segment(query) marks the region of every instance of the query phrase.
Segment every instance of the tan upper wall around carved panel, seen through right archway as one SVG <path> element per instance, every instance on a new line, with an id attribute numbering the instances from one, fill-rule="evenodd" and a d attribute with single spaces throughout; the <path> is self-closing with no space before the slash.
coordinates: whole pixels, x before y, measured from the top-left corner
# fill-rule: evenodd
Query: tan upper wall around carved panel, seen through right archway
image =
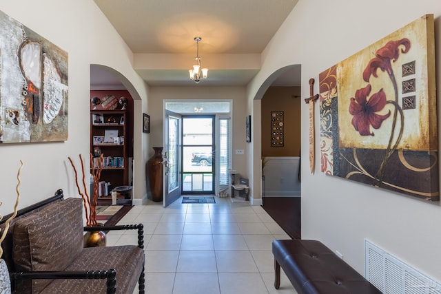
<path id="1" fill-rule="evenodd" d="M 269 87 L 262 98 L 262 157 L 300 156 L 300 87 Z M 283 111 L 283 147 L 271 146 L 271 111 Z"/>

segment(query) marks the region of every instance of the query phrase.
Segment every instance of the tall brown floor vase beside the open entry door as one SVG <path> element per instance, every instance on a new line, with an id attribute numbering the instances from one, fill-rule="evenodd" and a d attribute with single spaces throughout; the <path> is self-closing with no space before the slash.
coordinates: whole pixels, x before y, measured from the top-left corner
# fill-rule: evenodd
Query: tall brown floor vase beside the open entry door
<path id="1" fill-rule="evenodd" d="M 153 147 L 154 154 L 147 160 L 147 177 L 153 201 L 163 200 L 163 147 Z"/>

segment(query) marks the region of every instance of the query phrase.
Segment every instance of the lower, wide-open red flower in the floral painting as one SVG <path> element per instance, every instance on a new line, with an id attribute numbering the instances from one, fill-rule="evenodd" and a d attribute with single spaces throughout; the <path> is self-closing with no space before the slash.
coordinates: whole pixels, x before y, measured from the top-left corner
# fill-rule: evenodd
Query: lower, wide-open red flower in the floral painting
<path id="1" fill-rule="evenodd" d="M 367 96 L 371 93 L 371 85 L 359 89 L 356 91 L 355 98 L 351 98 L 351 104 L 349 105 L 349 113 L 353 115 L 352 125 L 360 133 L 361 136 L 373 136 L 370 131 L 370 126 L 374 129 L 378 129 L 381 126 L 383 120 L 391 115 L 391 111 L 385 115 L 376 114 L 384 108 L 386 105 L 386 94 L 381 89 L 377 93 L 373 94 L 369 101 Z"/>

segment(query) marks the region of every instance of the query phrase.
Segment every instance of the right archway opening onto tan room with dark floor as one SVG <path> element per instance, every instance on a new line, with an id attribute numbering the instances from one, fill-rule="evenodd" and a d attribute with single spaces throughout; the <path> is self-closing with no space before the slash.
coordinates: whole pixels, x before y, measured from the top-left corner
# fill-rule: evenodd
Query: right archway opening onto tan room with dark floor
<path id="1" fill-rule="evenodd" d="M 300 65 L 280 68 L 267 78 L 254 103 L 260 115 L 260 125 L 255 125 L 260 148 L 255 152 L 260 156 L 263 208 L 291 238 L 301 235 L 300 74 Z"/>

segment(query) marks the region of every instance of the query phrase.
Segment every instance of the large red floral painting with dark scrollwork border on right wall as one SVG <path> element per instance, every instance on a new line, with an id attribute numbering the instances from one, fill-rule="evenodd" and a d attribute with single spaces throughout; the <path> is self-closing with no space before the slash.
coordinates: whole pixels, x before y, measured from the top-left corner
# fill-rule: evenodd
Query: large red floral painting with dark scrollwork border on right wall
<path id="1" fill-rule="evenodd" d="M 433 14 L 319 80 L 322 172 L 440 200 Z"/>

